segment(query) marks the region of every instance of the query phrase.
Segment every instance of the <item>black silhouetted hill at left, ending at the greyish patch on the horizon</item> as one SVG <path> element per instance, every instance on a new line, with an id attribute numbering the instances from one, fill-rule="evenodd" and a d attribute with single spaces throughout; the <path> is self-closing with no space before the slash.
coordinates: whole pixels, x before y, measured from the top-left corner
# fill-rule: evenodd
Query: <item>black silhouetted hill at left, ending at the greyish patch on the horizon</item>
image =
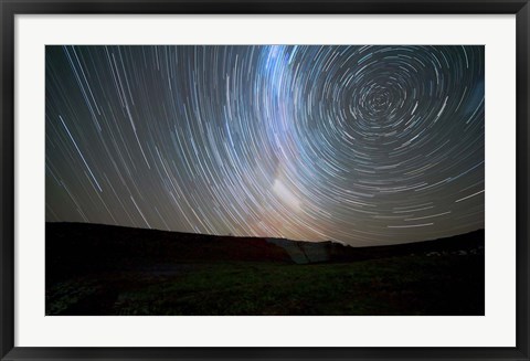
<path id="1" fill-rule="evenodd" d="M 265 238 L 213 236 L 89 223 L 46 223 L 46 272 L 137 267 L 151 263 L 290 263 Z"/>

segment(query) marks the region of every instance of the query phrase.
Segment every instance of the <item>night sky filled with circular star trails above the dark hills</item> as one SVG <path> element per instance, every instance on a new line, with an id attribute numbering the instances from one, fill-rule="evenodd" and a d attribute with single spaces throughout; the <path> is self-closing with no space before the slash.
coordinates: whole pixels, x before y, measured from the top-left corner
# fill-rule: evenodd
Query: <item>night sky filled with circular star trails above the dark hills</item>
<path id="1" fill-rule="evenodd" d="M 46 221 L 402 243 L 484 227 L 484 46 L 46 46 Z"/>

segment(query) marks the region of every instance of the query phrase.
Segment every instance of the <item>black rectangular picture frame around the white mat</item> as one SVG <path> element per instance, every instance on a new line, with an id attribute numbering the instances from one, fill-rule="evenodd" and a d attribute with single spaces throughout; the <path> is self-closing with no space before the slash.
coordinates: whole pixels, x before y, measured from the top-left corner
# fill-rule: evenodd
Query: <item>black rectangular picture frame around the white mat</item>
<path id="1" fill-rule="evenodd" d="M 529 360 L 529 0 L 0 0 L 1 360 Z M 14 347 L 14 18 L 17 14 L 517 14 L 517 346 L 515 348 Z"/>

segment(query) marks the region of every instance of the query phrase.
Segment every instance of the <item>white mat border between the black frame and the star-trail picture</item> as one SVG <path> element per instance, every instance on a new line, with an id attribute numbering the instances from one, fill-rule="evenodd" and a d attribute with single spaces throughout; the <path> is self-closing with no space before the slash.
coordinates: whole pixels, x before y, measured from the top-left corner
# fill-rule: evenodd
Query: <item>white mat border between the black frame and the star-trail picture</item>
<path id="1" fill-rule="evenodd" d="M 15 346 L 516 346 L 515 25 L 515 15 L 18 15 Z M 486 45 L 486 316 L 45 317 L 46 44 Z"/>

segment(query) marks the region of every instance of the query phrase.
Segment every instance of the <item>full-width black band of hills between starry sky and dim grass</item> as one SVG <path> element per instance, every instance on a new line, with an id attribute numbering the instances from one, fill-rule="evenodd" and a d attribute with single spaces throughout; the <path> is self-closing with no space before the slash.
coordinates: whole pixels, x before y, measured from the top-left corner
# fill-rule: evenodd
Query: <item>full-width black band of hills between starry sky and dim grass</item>
<path id="1" fill-rule="evenodd" d="M 484 252 L 484 230 L 436 241 L 351 247 L 332 242 L 214 236 L 88 223 L 46 223 L 46 270 L 149 263 L 352 262 L 411 254 Z M 53 266 L 53 267 L 47 267 Z"/>

